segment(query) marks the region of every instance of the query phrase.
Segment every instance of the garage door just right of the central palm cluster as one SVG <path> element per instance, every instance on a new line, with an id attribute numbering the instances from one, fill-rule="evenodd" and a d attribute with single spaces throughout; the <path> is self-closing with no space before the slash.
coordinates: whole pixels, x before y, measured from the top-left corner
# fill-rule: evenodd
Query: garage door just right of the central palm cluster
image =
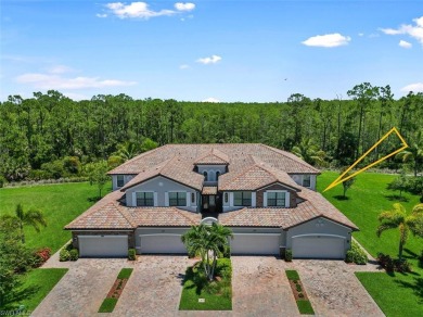
<path id="1" fill-rule="evenodd" d="M 234 233 L 231 254 L 279 254 L 280 233 Z"/>

